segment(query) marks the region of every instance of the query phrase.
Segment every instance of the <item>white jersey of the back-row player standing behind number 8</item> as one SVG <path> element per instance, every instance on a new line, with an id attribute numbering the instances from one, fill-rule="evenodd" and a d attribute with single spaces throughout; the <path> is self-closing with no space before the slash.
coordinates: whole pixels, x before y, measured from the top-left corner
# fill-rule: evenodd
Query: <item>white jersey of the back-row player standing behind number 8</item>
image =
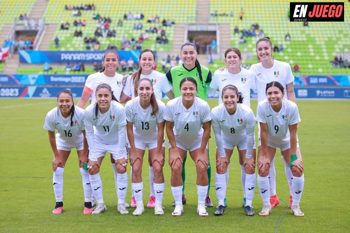
<path id="1" fill-rule="evenodd" d="M 219 104 L 222 104 L 222 89 L 229 84 L 237 87 L 238 91 L 241 92 L 244 97 L 243 104 L 250 108 L 250 89 L 257 92 L 254 73 L 243 67 L 241 67 L 241 71 L 238 74 L 231 74 L 228 69 L 215 71 L 210 83 L 210 88 L 215 90 L 219 88 Z"/>

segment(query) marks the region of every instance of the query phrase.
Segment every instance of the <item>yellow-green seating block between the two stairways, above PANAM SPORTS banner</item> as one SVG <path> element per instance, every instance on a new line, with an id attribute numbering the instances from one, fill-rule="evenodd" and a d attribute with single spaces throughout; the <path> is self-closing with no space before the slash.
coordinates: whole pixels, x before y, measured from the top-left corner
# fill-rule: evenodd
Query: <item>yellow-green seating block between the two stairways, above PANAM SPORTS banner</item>
<path id="1" fill-rule="evenodd" d="M 79 4 L 91 4 L 90 0 L 79 1 Z M 83 38 L 94 37 L 94 31 L 96 30 L 96 20 L 92 19 L 93 13 L 99 13 L 102 17 L 110 17 L 112 23 L 110 23 L 110 29 L 116 30 L 116 37 L 98 37 L 100 42 L 100 50 L 106 49 L 107 46 L 111 43 L 120 48 L 120 41 L 123 36 L 126 36 L 128 39 L 134 37 L 135 40 L 138 40 L 138 35 L 141 32 L 145 32 L 149 27 L 162 26 L 161 23 L 147 23 L 147 20 L 151 16 L 159 16 L 160 21 L 163 19 L 170 19 L 176 23 L 194 23 L 195 14 L 196 14 L 196 1 L 195 0 L 177 0 L 177 1 L 162 1 L 155 0 L 152 2 L 142 1 L 142 0 L 132 0 L 128 1 L 127 4 L 122 1 L 107 1 L 107 0 L 97 0 L 93 1 L 96 5 L 96 10 L 82 10 L 82 16 L 75 17 L 72 15 L 71 10 L 65 10 L 65 5 L 72 5 L 71 1 L 68 0 L 50 0 L 48 6 L 44 12 L 43 17 L 45 17 L 46 23 L 58 24 L 58 27 L 55 32 L 60 40 L 59 44 L 60 50 L 86 50 L 86 44 L 83 43 Z M 74 4 L 73 4 L 74 5 Z M 72 5 L 72 6 L 73 6 Z M 142 9 L 142 12 L 140 12 Z M 186 10 L 183 10 L 186 9 Z M 143 20 L 123 20 L 124 14 L 143 13 Z M 74 20 L 86 20 L 86 27 L 80 28 L 83 32 L 82 37 L 74 37 L 74 31 L 77 29 L 73 25 Z M 123 21 L 123 26 L 118 27 L 118 20 Z M 69 22 L 69 30 L 60 30 L 61 21 Z M 143 24 L 142 30 L 133 30 L 133 24 L 138 24 L 141 22 Z M 174 27 L 163 27 L 166 32 L 166 36 L 169 40 L 168 44 L 156 44 L 155 39 L 157 34 L 148 33 L 149 40 L 144 41 L 142 48 L 150 48 L 158 51 L 168 51 L 172 49 L 172 41 L 174 38 Z M 79 30 L 79 29 L 78 29 Z M 54 42 L 52 41 L 50 50 L 56 50 Z"/>

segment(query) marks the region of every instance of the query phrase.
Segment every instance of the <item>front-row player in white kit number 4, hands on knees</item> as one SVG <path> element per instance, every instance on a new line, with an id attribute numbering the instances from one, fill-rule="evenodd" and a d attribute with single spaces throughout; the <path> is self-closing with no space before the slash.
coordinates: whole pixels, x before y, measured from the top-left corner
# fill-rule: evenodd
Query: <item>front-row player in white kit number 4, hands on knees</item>
<path id="1" fill-rule="evenodd" d="M 204 202 L 208 191 L 210 108 L 207 102 L 196 97 L 197 82 L 194 78 L 183 78 L 180 90 L 181 96 L 168 102 L 163 116 L 169 139 L 169 165 L 172 170 L 170 183 L 175 199 L 175 210 L 172 215 L 180 216 L 183 212 L 182 162 L 186 152 L 189 151 L 197 171 L 197 213 L 200 216 L 208 216 Z"/>

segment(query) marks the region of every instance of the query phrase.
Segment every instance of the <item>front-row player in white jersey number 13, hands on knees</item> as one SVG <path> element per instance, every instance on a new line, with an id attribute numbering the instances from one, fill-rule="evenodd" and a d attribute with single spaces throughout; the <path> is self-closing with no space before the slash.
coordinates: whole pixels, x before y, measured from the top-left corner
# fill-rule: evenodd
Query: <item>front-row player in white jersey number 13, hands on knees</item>
<path id="1" fill-rule="evenodd" d="M 142 203 L 142 162 L 146 147 L 152 161 L 154 177 L 153 188 L 155 191 L 154 214 L 164 214 L 162 199 L 164 193 L 164 156 L 165 156 L 165 121 L 163 114 L 165 104 L 156 99 L 153 83 L 147 78 L 142 78 L 136 85 L 138 97 L 135 97 L 125 105 L 127 119 L 127 136 L 130 145 L 130 165 L 132 166 L 131 187 L 137 203 L 133 215 L 141 215 L 145 212 Z"/>

